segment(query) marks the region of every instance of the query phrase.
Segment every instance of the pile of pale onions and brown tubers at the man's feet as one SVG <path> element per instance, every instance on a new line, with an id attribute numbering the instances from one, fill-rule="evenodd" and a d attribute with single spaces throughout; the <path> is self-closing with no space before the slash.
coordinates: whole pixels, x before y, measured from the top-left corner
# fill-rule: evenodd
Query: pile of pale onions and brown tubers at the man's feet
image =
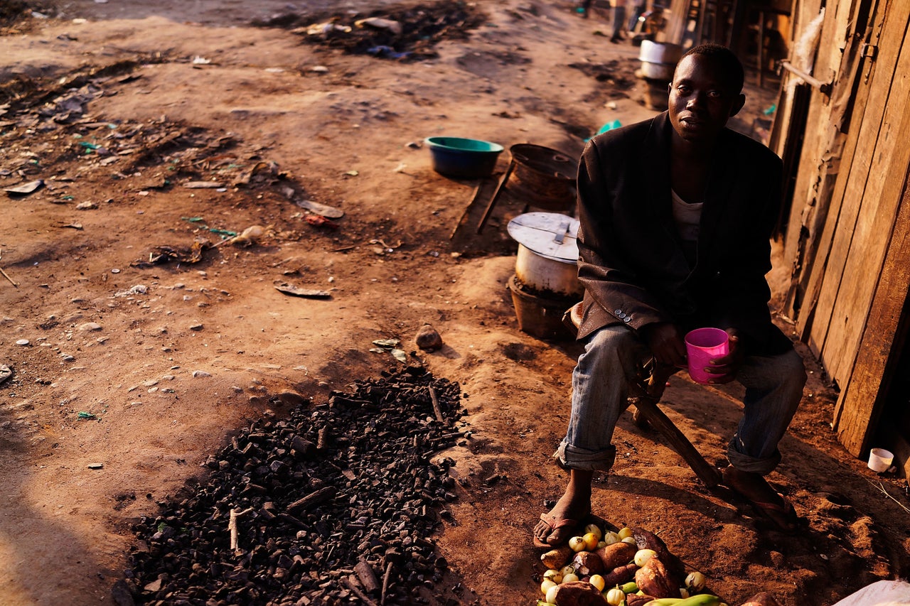
<path id="1" fill-rule="evenodd" d="M 706 591 L 703 573 L 687 573 L 660 537 L 641 528 L 588 524 L 541 562 L 544 599 L 536 606 L 726 606 Z M 759 593 L 743 606 L 778 605 Z"/>

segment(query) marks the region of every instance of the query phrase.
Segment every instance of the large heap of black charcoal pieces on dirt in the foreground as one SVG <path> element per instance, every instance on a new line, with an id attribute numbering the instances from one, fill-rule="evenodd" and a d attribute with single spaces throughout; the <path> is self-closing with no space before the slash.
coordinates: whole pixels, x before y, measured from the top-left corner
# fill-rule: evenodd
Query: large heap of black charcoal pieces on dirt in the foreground
<path id="1" fill-rule="evenodd" d="M 147 604 L 437 603 L 431 536 L 455 500 L 460 387 L 384 373 L 209 457 L 208 480 L 136 524 L 126 587 Z"/>

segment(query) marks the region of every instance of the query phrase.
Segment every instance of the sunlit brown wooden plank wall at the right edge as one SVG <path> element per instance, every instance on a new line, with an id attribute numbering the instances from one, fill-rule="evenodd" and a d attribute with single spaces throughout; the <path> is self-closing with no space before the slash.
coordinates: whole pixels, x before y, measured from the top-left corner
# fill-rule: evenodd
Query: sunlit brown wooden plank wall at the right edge
<path id="1" fill-rule="evenodd" d="M 797 0 L 794 41 L 818 8 Z M 908 27 L 900 0 L 827 3 L 812 74 L 834 86 L 830 97 L 812 94 L 785 236 L 793 267 L 786 311 L 841 388 L 834 429 L 857 456 L 882 409 L 910 286 L 896 269 L 907 264 L 910 238 L 910 211 L 898 221 L 910 167 Z M 784 112 L 793 77 L 784 76 Z M 788 144 L 773 141 L 778 154 Z"/>

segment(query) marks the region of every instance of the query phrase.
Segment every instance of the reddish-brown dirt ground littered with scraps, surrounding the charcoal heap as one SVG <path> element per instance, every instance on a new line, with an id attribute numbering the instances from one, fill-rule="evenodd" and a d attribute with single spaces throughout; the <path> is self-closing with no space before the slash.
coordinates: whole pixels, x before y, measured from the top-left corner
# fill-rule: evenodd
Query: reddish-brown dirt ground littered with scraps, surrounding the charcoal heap
<path id="1" fill-rule="evenodd" d="M 517 327 L 505 227 L 523 202 L 505 197 L 476 234 L 487 190 L 470 205 L 477 183 L 440 176 L 409 144 L 472 136 L 575 156 L 603 124 L 654 112 L 633 76 L 638 50 L 602 35 L 606 15 L 539 0 L 426 6 L 482 23 L 402 60 L 310 44 L 299 29 L 398 10 L 389 2 L 72 0 L 7 26 L 0 186 L 44 187 L 0 194 L 0 363 L 14 370 L 0 385 L 0 603 L 113 603 L 133 521 L 201 474 L 232 431 L 286 413 L 279 394 L 323 402 L 399 366 L 370 351 L 380 338 L 468 394 L 473 435 L 447 453 L 467 481 L 436 537 L 445 583 L 467 588 L 465 602 L 541 597 L 531 528 L 565 481 L 548 457 L 579 348 Z M 775 91 L 746 92 L 733 126 L 749 132 Z M 221 185 L 187 187 L 200 181 Z M 343 217 L 320 222 L 304 200 Z M 249 246 L 220 243 L 257 225 Z M 288 297 L 282 283 L 331 297 Z M 440 351 L 414 345 L 425 323 Z M 831 604 L 905 577 L 906 484 L 838 445 L 836 393 L 805 359 L 810 382 L 771 480 L 806 530 L 768 529 L 705 489 L 631 417 L 595 512 L 659 534 L 730 604 L 757 591 Z M 737 393 L 677 376 L 663 409 L 723 460 Z"/>

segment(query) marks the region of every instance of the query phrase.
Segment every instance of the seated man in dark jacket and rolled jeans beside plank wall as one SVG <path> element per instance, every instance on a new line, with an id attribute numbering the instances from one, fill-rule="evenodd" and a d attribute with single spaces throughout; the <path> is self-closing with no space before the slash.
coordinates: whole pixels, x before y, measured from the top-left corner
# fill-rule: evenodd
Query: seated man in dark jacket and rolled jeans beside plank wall
<path id="1" fill-rule="evenodd" d="M 802 398 L 803 360 L 773 325 L 764 278 L 782 194 L 782 163 L 726 128 L 743 107 L 743 66 L 729 49 L 695 46 L 676 66 L 669 109 L 595 136 L 581 156 L 579 278 L 585 288 L 571 419 L 555 457 L 569 485 L 534 529 L 559 545 L 591 511 L 591 478 L 610 470 L 611 440 L 642 361 L 683 367 L 683 337 L 723 328 L 730 353 L 710 382 L 745 387 L 723 483 L 782 529 L 797 517 L 764 480 Z"/>

